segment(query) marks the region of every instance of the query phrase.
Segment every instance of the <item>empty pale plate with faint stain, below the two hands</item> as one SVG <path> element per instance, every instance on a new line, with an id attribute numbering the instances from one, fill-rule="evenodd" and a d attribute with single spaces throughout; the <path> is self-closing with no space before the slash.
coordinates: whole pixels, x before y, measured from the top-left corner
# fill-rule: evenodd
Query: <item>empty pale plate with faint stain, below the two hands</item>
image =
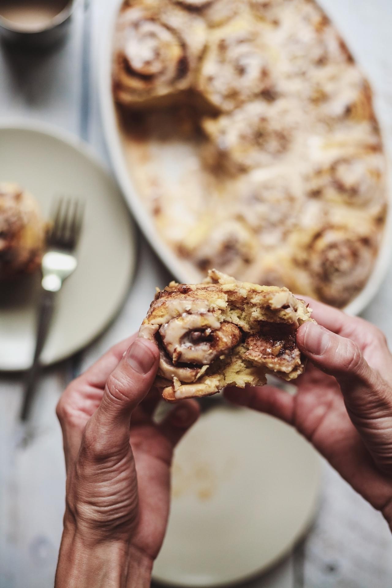
<path id="1" fill-rule="evenodd" d="M 265 571 L 306 532 L 319 482 L 320 459 L 292 427 L 250 410 L 212 409 L 177 447 L 153 577 L 200 588 Z"/>

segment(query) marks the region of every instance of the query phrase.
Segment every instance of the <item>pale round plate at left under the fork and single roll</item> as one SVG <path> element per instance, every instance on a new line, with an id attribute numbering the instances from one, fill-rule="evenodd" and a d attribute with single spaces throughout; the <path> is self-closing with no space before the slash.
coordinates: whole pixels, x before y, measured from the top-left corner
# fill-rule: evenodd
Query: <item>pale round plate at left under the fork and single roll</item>
<path id="1" fill-rule="evenodd" d="M 88 146 L 41 123 L 0 122 L 0 179 L 28 189 L 45 215 L 59 195 L 79 196 L 86 204 L 79 265 L 58 295 L 42 352 L 48 365 L 88 345 L 118 312 L 135 268 L 132 221 L 116 183 Z M 39 281 L 37 272 L 1 284 L 0 370 L 31 364 Z"/>

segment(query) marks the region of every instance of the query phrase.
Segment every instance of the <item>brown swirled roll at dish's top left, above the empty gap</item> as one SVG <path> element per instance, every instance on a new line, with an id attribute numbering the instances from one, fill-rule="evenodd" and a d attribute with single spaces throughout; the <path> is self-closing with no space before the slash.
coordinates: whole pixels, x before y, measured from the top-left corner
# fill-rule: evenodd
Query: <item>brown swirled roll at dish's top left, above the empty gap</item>
<path id="1" fill-rule="evenodd" d="M 205 39 L 203 20 L 176 6 L 125 8 L 115 35 L 115 100 L 145 107 L 177 98 L 190 88 Z"/>

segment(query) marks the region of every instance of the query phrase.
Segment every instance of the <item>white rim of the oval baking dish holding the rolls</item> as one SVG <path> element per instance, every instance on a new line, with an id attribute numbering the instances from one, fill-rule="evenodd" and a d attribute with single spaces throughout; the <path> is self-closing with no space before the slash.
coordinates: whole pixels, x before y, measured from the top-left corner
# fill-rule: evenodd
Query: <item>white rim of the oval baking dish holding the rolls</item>
<path id="1" fill-rule="evenodd" d="M 176 276 L 180 282 L 194 282 L 199 277 L 199 272 L 193 269 L 189 263 L 178 258 L 175 253 L 163 242 L 159 237 L 153 219 L 146 211 L 143 205 L 142 197 L 138 194 L 132 178 L 130 176 L 130 169 L 125 157 L 121 136 L 116 119 L 115 105 L 112 96 L 112 41 L 113 32 L 115 29 L 116 16 L 122 0 L 113 2 L 110 8 L 110 15 L 105 13 L 105 19 L 102 19 L 102 35 L 100 35 L 100 61 L 99 61 L 99 92 L 100 104 L 102 109 L 103 127 L 105 131 L 106 142 L 108 145 L 110 158 L 112 160 L 113 169 L 116 173 L 122 191 L 125 195 L 126 201 L 130 206 L 136 220 L 143 230 L 146 238 L 149 240 L 155 252 L 160 259 L 165 263 L 166 267 Z M 320 2 L 320 4 L 326 4 Z M 325 6 L 324 6 L 325 8 Z M 337 22 L 339 27 L 339 22 Z M 375 102 L 376 112 L 377 101 Z M 378 120 L 381 129 L 383 129 L 383 121 L 380 117 L 380 112 L 377 112 Z M 391 186 L 390 186 L 391 188 Z M 387 219 L 387 225 L 384 230 L 383 243 L 378 254 L 377 261 L 374 265 L 374 270 L 367 285 L 346 307 L 346 312 L 351 315 L 359 314 L 370 302 L 377 290 L 380 288 L 383 281 L 390 259 L 390 252 L 392 249 L 392 189 L 390 189 L 390 207 Z"/>

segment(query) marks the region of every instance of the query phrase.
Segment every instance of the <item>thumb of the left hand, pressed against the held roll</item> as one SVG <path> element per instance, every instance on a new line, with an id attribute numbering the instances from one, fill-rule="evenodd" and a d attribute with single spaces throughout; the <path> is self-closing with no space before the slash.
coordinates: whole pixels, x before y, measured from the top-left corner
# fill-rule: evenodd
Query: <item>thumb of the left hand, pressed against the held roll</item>
<path id="1" fill-rule="evenodd" d="M 89 432 L 92 445 L 99 453 L 128 450 L 132 411 L 148 394 L 156 376 L 159 351 L 148 339 L 136 339 L 108 377 L 98 410 L 91 418 Z"/>

